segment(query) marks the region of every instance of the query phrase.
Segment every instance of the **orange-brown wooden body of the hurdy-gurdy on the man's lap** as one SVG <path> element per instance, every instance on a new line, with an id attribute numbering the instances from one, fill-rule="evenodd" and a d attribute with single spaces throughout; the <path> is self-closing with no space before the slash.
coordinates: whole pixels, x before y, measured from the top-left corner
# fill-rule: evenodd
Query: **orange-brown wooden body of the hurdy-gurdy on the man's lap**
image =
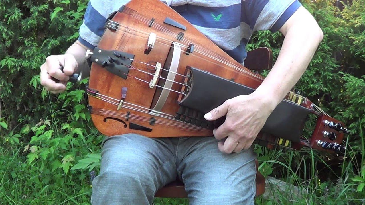
<path id="1" fill-rule="evenodd" d="M 186 30 L 164 23 L 166 18 L 183 25 Z M 97 63 L 92 63 L 89 78 L 90 89 L 111 97 L 109 99 L 121 100 L 122 89 L 127 88 L 127 92 L 124 92 L 123 107 L 119 110 L 117 109 L 118 104 L 111 104 L 99 98 L 89 97 L 89 109 L 91 110 L 93 123 L 106 136 L 125 133 L 136 133 L 156 138 L 213 136 L 210 129 L 170 119 L 176 115 L 179 109 L 178 100 L 183 97 L 183 94 L 179 92 L 184 87 L 181 83 L 186 82 L 183 76 L 188 73 L 187 66 L 213 73 L 225 79 L 234 80 L 234 82 L 253 89 L 260 86 L 264 80 L 263 77 L 253 73 L 231 58 L 187 20 L 159 0 L 132 0 L 122 7 L 120 12 L 116 12 L 111 20 L 118 23 L 116 25 L 117 30 L 108 27 L 107 23 L 98 48 L 123 51 L 133 54 L 134 58 L 127 79 L 110 73 Z M 149 49 L 147 44 L 151 33 L 156 34 L 156 40 L 149 54 L 146 54 L 146 50 Z M 191 45 L 194 46 L 194 50 L 189 53 L 187 51 L 191 48 Z M 173 51 L 178 51 L 179 54 L 176 71 L 178 74 L 173 78 L 174 83 L 170 89 L 177 92 L 169 92 L 160 111 L 170 116 L 166 118 L 151 115 L 149 112 L 154 108 L 162 92 L 162 88 L 158 86 L 152 89 L 149 88 L 149 82 L 153 79 L 153 66 L 156 65 L 156 62 L 159 62 L 164 67 L 169 54 L 173 53 L 172 48 L 174 48 Z M 95 52 L 97 51 L 94 50 Z M 270 61 L 271 59 L 262 60 Z M 162 70 L 162 72 L 164 71 Z M 164 86 L 164 82 L 166 80 L 160 78 L 156 85 Z M 204 97 L 202 97 L 202 100 L 204 100 Z M 301 105 L 310 108 L 311 102 L 304 99 Z M 315 111 L 313 113 L 322 116 L 322 114 Z M 329 116 L 323 117 L 335 121 Z M 147 129 L 131 129 L 131 123 Z M 294 147 L 299 149 L 303 146 L 309 146 L 320 149 L 316 142 L 327 139 L 321 136 L 320 129 L 323 126 L 318 126 L 317 130 L 314 131 L 312 141 L 304 140 Z M 277 142 L 275 136 L 268 136 L 263 133 L 260 133 L 258 138 L 265 138 L 271 143 Z M 343 134 L 338 133 L 336 142 L 341 143 L 342 138 Z"/>

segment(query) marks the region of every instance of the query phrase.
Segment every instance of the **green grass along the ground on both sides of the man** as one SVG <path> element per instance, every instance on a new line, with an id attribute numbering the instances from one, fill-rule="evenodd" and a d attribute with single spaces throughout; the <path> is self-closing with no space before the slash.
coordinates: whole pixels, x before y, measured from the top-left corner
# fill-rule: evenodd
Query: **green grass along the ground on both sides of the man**
<path id="1" fill-rule="evenodd" d="M 98 138 L 95 142 L 95 134 L 90 134 L 79 139 L 81 144 L 78 147 L 87 147 L 85 152 L 97 150 L 101 139 Z M 359 139 L 360 152 L 365 153 L 362 131 Z M 30 152 L 24 152 L 26 144 L 10 144 L 6 137 L 0 140 L 0 205 L 89 204 L 92 188 L 88 169 L 70 170 L 68 174 L 62 169 L 52 171 L 51 161 L 47 158 L 42 160 L 41 152 L 35 163 L 29 164 L 27 155 Z M 345 143 L 349 144 L 349 140 L 347 138 Z M 75 146 L 76 144 L 72 145 Z M 41 150 L 46 146 L 39 147 Z M 364 154 L 351 148 L 342 159 L 331 158 L 313 150 L 270 150 L 256 147 L 255 151 L 258 154 L 260 173 L 265 177 L 272 176 L 287 182 L 287 186 L 282 187 L 284 190 L 272 186 L 273 197 L 256 197 L 257 205 L 365 204 L 365 190 L 357 192 L 360 182 L 351 180 L 358 176 L 365 181 L 365 172 L 361 175 L 365 166 Z M 65 155 L 61 158 L 65 158 Z M 76 160 L 72 162 L 75 163 Z M 299 187 L 300 194 L 290 194 L 292 189 L 289 185 Z M 188 205 L 188 199 L 155 198 L 154 205 Z"/>

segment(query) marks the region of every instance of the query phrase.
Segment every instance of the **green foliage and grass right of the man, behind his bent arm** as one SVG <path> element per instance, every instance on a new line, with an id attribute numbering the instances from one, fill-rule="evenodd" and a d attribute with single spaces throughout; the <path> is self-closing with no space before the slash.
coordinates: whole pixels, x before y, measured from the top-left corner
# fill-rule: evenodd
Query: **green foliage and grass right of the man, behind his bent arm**
<path id="1" fill-rule="evenodd" d="M 342 9 L 334 6 L 338 1 L 302 3 L 318 21 L 324 38 L 296 87 L 329 115 L 348 125 L 351 134 L 345 143 L 349 150 L 340 161 L 315 151 L 282 153 L 257 147 L 261 173 L 303 187 L 307 192 L 302 198 L 293 198 L 278 191 L 276 200 L 259 197 L 256 201 L 258 204 L 287 204 L 287 201 L 364 204 L 365 146 L 361 128 L 365 127 L 365 1 L 354 0 L 351 6 L 341 5 Z M 282 40 L 278 32 L 258 32 L 248 47 L 270 47 L 276 58 Z"/>

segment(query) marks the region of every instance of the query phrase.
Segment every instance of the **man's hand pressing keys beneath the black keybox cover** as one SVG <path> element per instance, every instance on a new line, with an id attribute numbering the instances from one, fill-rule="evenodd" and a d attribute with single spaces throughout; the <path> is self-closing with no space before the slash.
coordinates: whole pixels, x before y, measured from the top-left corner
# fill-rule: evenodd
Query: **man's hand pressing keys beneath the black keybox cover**
<path id="1" fill-rule="evenodd" d="M 224 123 L 213 130 L 213 134 L 218 140 L 227 137 L 224 142 L 218 142 L 218 148 L 230 154 L 250 148 L 273 109 L 270 100 L 252 93 L 226 100 L 204 117 L 211 121 L 227 115 Z"/>

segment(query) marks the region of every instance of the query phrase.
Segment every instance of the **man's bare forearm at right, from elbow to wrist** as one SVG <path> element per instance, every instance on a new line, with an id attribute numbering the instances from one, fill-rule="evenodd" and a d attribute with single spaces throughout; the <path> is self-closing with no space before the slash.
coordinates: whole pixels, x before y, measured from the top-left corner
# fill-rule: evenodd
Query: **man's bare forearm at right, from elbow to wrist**
<path id="1" fill-rule="evenodd" d="M 312 24 L 289 28 L 275 65 L 254 93 L 270 99 L 274 109 L 303 75 L 322 38 Z"/>

